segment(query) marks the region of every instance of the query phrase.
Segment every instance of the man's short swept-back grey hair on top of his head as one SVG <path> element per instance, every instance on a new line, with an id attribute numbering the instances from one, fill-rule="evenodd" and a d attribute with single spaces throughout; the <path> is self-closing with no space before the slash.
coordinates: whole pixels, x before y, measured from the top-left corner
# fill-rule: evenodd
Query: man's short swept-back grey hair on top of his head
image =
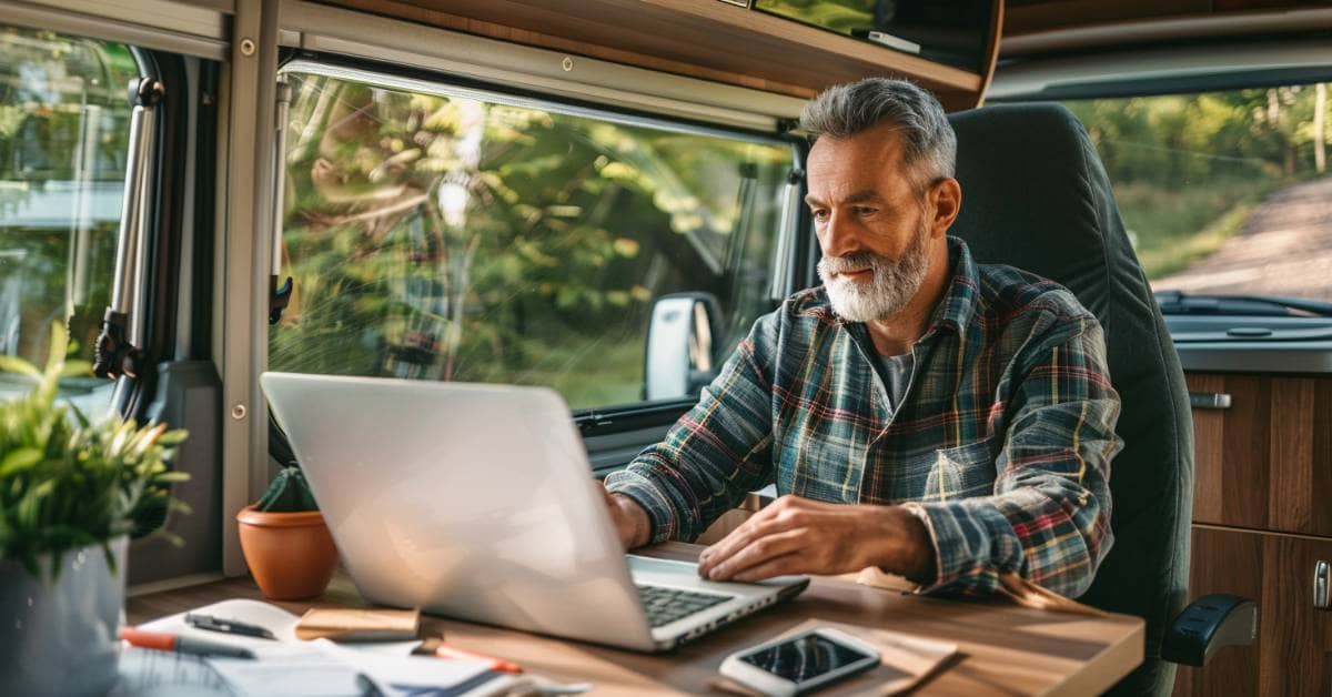
<path id="1" fill-rule="evenodd" d="M 920 175 L 918 188 L 951 177 L 958 159 L 958 135 L 930 92 L 906 80 L 866 77 L 834 85 L 805 105 L 801 128 L 810 143 L 821 136 L 847 137 L 879 124 L 894 124 L 902 137 L 903 164 Z"/>

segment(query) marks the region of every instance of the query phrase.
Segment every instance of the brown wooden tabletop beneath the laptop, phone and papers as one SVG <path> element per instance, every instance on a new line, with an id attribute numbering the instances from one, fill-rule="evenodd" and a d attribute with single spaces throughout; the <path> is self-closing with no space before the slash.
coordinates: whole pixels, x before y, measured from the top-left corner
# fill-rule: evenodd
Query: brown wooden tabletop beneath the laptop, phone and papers
<path id="1" fill-rule="evenodd" d="M 695 558 L 701 549 L 669 542 L 649 554 Z M 140 624 L 236 597 L 262 600 L 254 584 L 242 577 L 128 598 L 125 610 L 132 624 Z M 324 597 L 277 605 L 300 614 L 314 605 L 356 606 L 364 601 L 350 580 L 338 574 Z M 998 602 L 935 600 L 843 578 L 815 578 L 794 601 L 655 656 L 433 616 L 422 624 L 444 632 L 450 644 L 509 658 L 533 673 L 590 681 L 597 693 L 701 694 L 709 692 L 707 682 L 726 654 L 811 617 L 956 642 L 960 656 L 916 694 L 1098 694 L 1143 660 L 1144 629 L 1138 617 L 1087 617 Z M 871 676 L 840 682 L 826 694 L 870 692 Z"/>

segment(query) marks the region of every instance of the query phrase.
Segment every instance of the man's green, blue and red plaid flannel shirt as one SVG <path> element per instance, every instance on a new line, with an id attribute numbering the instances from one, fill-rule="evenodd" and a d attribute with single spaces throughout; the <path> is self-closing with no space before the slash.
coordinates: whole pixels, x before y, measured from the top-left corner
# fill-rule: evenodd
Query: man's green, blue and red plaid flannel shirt
<path id="1" fill-rule="evenodd" d="M 697 406 L 606 482 L 653 541 L 693 540 L 747 492 L 903 504 L 935 548 L 923 592 L 987 593 L 996 573 L 1070 597 L 1110 549 L 1119 396 L 1100 325 L 1063 287 L 980 265 L 948 239 L 952 280 L 892 413 L 864 324 L 823 288 L 761 317 Z"/>

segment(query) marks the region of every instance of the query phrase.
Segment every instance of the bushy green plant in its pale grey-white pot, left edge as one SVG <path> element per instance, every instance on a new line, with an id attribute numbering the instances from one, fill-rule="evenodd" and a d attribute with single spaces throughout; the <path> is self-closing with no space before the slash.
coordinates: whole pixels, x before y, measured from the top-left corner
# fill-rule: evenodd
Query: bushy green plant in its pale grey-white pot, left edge
<path id="1" fill-rule="evenodd" d="M 184 430 L 119 414 L 91 422 L 57 404 L 57 381 L 88 372 L 65 361 L 57 324 L 44 370 L 0 356 L 31 381 L 0 402 L 0 685 L 7 694 L 105 694 L 117 681 L 116 629 L 128 538 L 185 509 L 166 461 Z"/>

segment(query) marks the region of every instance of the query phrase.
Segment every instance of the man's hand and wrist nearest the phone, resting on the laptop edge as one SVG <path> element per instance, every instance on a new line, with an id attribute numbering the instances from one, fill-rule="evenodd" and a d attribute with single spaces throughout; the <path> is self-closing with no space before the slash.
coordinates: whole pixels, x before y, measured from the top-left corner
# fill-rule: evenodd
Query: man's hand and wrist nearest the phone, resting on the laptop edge
<path id="1" fill-rule="evenodd" d="M 900 506 L 783 496 L 705 549 L 698 574 L 713 581 L 762 581 L 866 566 L 916 582 L 932 580 L 934 544 L 924 522 Z"/>

